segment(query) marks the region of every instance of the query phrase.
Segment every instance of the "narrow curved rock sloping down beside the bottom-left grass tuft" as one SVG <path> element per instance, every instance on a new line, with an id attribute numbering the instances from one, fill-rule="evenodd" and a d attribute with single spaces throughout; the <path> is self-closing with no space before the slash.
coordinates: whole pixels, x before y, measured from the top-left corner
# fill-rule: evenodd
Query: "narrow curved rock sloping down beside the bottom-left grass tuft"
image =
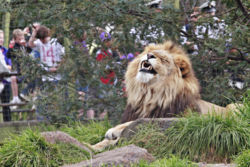
<path id="1" fill-rule="evenodd" d="M 63 143 L 74 144 L 74 145 L 80 147 L 81 149 L 86 150 L 90 154 L 90 156 L 93 155 L 92 151 L 88 147 L 84 146 L 81 142 L 79 142 L 77 139 L 71 137 L 67 133 L 64 133 L 61 131 L 52 131 L 52 132 L 42 132 L 41 135 L 45 138 L 45 140 L 48 143 L 54 144 L 54 143 L 59 141 L 59 142 L 63 142 Z"/>

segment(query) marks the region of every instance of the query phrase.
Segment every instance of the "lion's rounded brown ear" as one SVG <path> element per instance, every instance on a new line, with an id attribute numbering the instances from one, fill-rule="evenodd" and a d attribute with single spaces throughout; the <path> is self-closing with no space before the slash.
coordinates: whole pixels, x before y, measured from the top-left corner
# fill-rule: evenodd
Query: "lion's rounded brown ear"
<path id="1" fill-rule="evenodd" d="M 191 63 L 186 57 L 176 57 L 175 64 L 180 69 L 182 77 L 185 78 L 191 73 Z"/>

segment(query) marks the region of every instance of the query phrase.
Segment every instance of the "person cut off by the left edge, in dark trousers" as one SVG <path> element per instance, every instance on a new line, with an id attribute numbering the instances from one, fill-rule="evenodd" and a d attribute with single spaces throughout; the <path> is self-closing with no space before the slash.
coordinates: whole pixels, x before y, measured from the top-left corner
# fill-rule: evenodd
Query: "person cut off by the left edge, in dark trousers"
<path id="1" fill-rule="evenodd" d="M 0 30 L 0 65 L 5 67 L 6 70 L 11 70 L 11 60 L 6 56 L 7 49 L 3 47 L 4 32 Z M 10 102 L 10 79 L 0 78 L 0 99 L 2 103 Z M 9 106 L 3 107 L 3 121 L 11 121 L 11 111 Z"/>

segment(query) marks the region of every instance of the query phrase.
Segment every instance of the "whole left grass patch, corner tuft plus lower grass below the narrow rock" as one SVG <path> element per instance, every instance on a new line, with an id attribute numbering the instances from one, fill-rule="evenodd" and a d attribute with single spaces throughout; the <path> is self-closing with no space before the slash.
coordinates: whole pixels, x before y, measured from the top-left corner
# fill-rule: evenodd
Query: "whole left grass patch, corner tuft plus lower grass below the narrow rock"
<path id="1" fill-rule="evenodd" d="M 73 144 L 49 144 L 35 130 L 27 129 L 21 135 L 3 142 L 0 147 L 1 167 L 61 166 L 89 159 L 85 150 Z"/>

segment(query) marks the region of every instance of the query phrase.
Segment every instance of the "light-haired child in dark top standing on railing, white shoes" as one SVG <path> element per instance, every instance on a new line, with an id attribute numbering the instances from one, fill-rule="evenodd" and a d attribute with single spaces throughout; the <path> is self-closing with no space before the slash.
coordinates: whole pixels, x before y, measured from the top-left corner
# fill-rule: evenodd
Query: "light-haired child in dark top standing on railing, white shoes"
<path id="1" fill-rule="evenodd" d="M 10 48 L 7 52 L 7 57 L 12 60 L 13 66 L 12 71 L 16 71 L 18 74 L 21 74 L 20 60 L 23 55 L 26 55 L 28 52 L 31 52 L 31 49 L 26 47 L 26 41 L 24 38 L 24 32 L 21 29 L 15 29 L 13 31 L 13 39 L 15 41 L 14 47 Z M 21 99 L 18 97 L 18 82 L 22 80 L 22 77 L 11 77 L 11 88 L 13 99 L 11 103 L 21 103 Z M 13 107 L 16 108 L 16 107 Z"/>

